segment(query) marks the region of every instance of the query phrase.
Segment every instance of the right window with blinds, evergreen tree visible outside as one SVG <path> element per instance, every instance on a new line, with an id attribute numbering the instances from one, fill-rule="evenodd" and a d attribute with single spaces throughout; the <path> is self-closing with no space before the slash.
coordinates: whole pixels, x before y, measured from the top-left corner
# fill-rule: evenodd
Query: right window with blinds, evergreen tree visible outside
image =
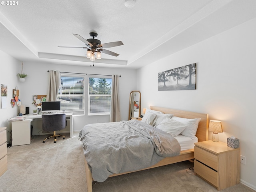
<path id="1" fill-rule="evenodd" d="M 94 78 L 88 80 L 88 115 L 110 114 L 112 78 Z"/>

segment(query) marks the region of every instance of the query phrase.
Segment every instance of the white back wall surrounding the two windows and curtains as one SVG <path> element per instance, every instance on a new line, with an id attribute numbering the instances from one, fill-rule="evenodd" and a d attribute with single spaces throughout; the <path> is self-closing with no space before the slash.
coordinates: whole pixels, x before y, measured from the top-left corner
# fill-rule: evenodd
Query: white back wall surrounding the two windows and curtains
<path id="1" fill-rule="evenodd" d="M 46 95 L 48 88 L 48 70 L 59 70 L 61 72 L 76 72 L 76 73 L 88 73 L 88 74 L 118 74 L 119 77 L 119 94 L 120 94 L 120 105 L 121 105 L 121 120 L 128 120 L 129 112 L 129 98 L 130 92 L 136 88 L 136 70 L 128 70 L 121 68 L 98 68 L 98 67 L 85 67 L 85 66 L 71 66 L 71 65 L 60 65 L 60 64 L 46 64 L 46 63 L 32 63 L 23 62 L 23 69 L 28 77 L 26 82 L 20 85 L 20 99 L 22 104 L 30 107 L 30 114 L 32 110 L 36 109 L 32 105 L 33 95 Z M 87 102 L 86 115 L 74 116 L 74 131 L 81 130 L 86 124 L 96 122 L 109 122 L 109 115 L 104 116 L 88 116 L 87 115 Z M 38 126 L 37 124 L 35 124 Z M 34 126 L 33 134 L 38 134 L 38 129 Z"/>

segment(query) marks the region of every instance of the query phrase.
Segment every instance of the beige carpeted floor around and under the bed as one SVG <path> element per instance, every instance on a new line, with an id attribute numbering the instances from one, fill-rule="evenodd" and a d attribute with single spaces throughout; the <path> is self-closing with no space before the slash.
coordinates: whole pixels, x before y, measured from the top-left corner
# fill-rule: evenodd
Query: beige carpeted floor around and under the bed
<path id="1" fill-rule="evenodd" d="M 82 143 L 73 138 L 46 140 L 33 136 L 30 145 L 8 148 L 8 170 L 0 177 L 0 192 L 87 192 Z M 216 192 L 189 170 L 190 161 L 94 182 L 93 192 Z M 255 192 L 238 184 L 222 192 Z"/>

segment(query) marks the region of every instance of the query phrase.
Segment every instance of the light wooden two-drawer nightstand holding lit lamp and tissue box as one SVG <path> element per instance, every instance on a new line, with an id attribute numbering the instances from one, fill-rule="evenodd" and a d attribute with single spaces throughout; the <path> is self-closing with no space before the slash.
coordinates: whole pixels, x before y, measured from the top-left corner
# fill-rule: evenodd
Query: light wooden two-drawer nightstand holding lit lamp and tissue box
<path id="1" fill-rule="evenodd" d="M 222 190 L 240 182 L 240 151 L 224 142 L 195 143 L 194 172 Z"/>

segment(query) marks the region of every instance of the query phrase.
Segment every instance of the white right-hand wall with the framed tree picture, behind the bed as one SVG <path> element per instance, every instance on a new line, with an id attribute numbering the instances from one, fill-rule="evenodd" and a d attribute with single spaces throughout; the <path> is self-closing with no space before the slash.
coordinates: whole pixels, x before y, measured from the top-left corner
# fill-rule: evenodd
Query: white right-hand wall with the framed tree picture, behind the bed
<path id="1" fill-rule="evenodd" d="M 142 108 L 162 106 L 221 120 L 220 140 L 240 139 L 241 182 L 256 190 L 256 19 L 138 70 Z M 196 63 L 196 90 L 158 91 L 158 72 Z M 211 138 L 211 133 L 209 135 Z"/>

